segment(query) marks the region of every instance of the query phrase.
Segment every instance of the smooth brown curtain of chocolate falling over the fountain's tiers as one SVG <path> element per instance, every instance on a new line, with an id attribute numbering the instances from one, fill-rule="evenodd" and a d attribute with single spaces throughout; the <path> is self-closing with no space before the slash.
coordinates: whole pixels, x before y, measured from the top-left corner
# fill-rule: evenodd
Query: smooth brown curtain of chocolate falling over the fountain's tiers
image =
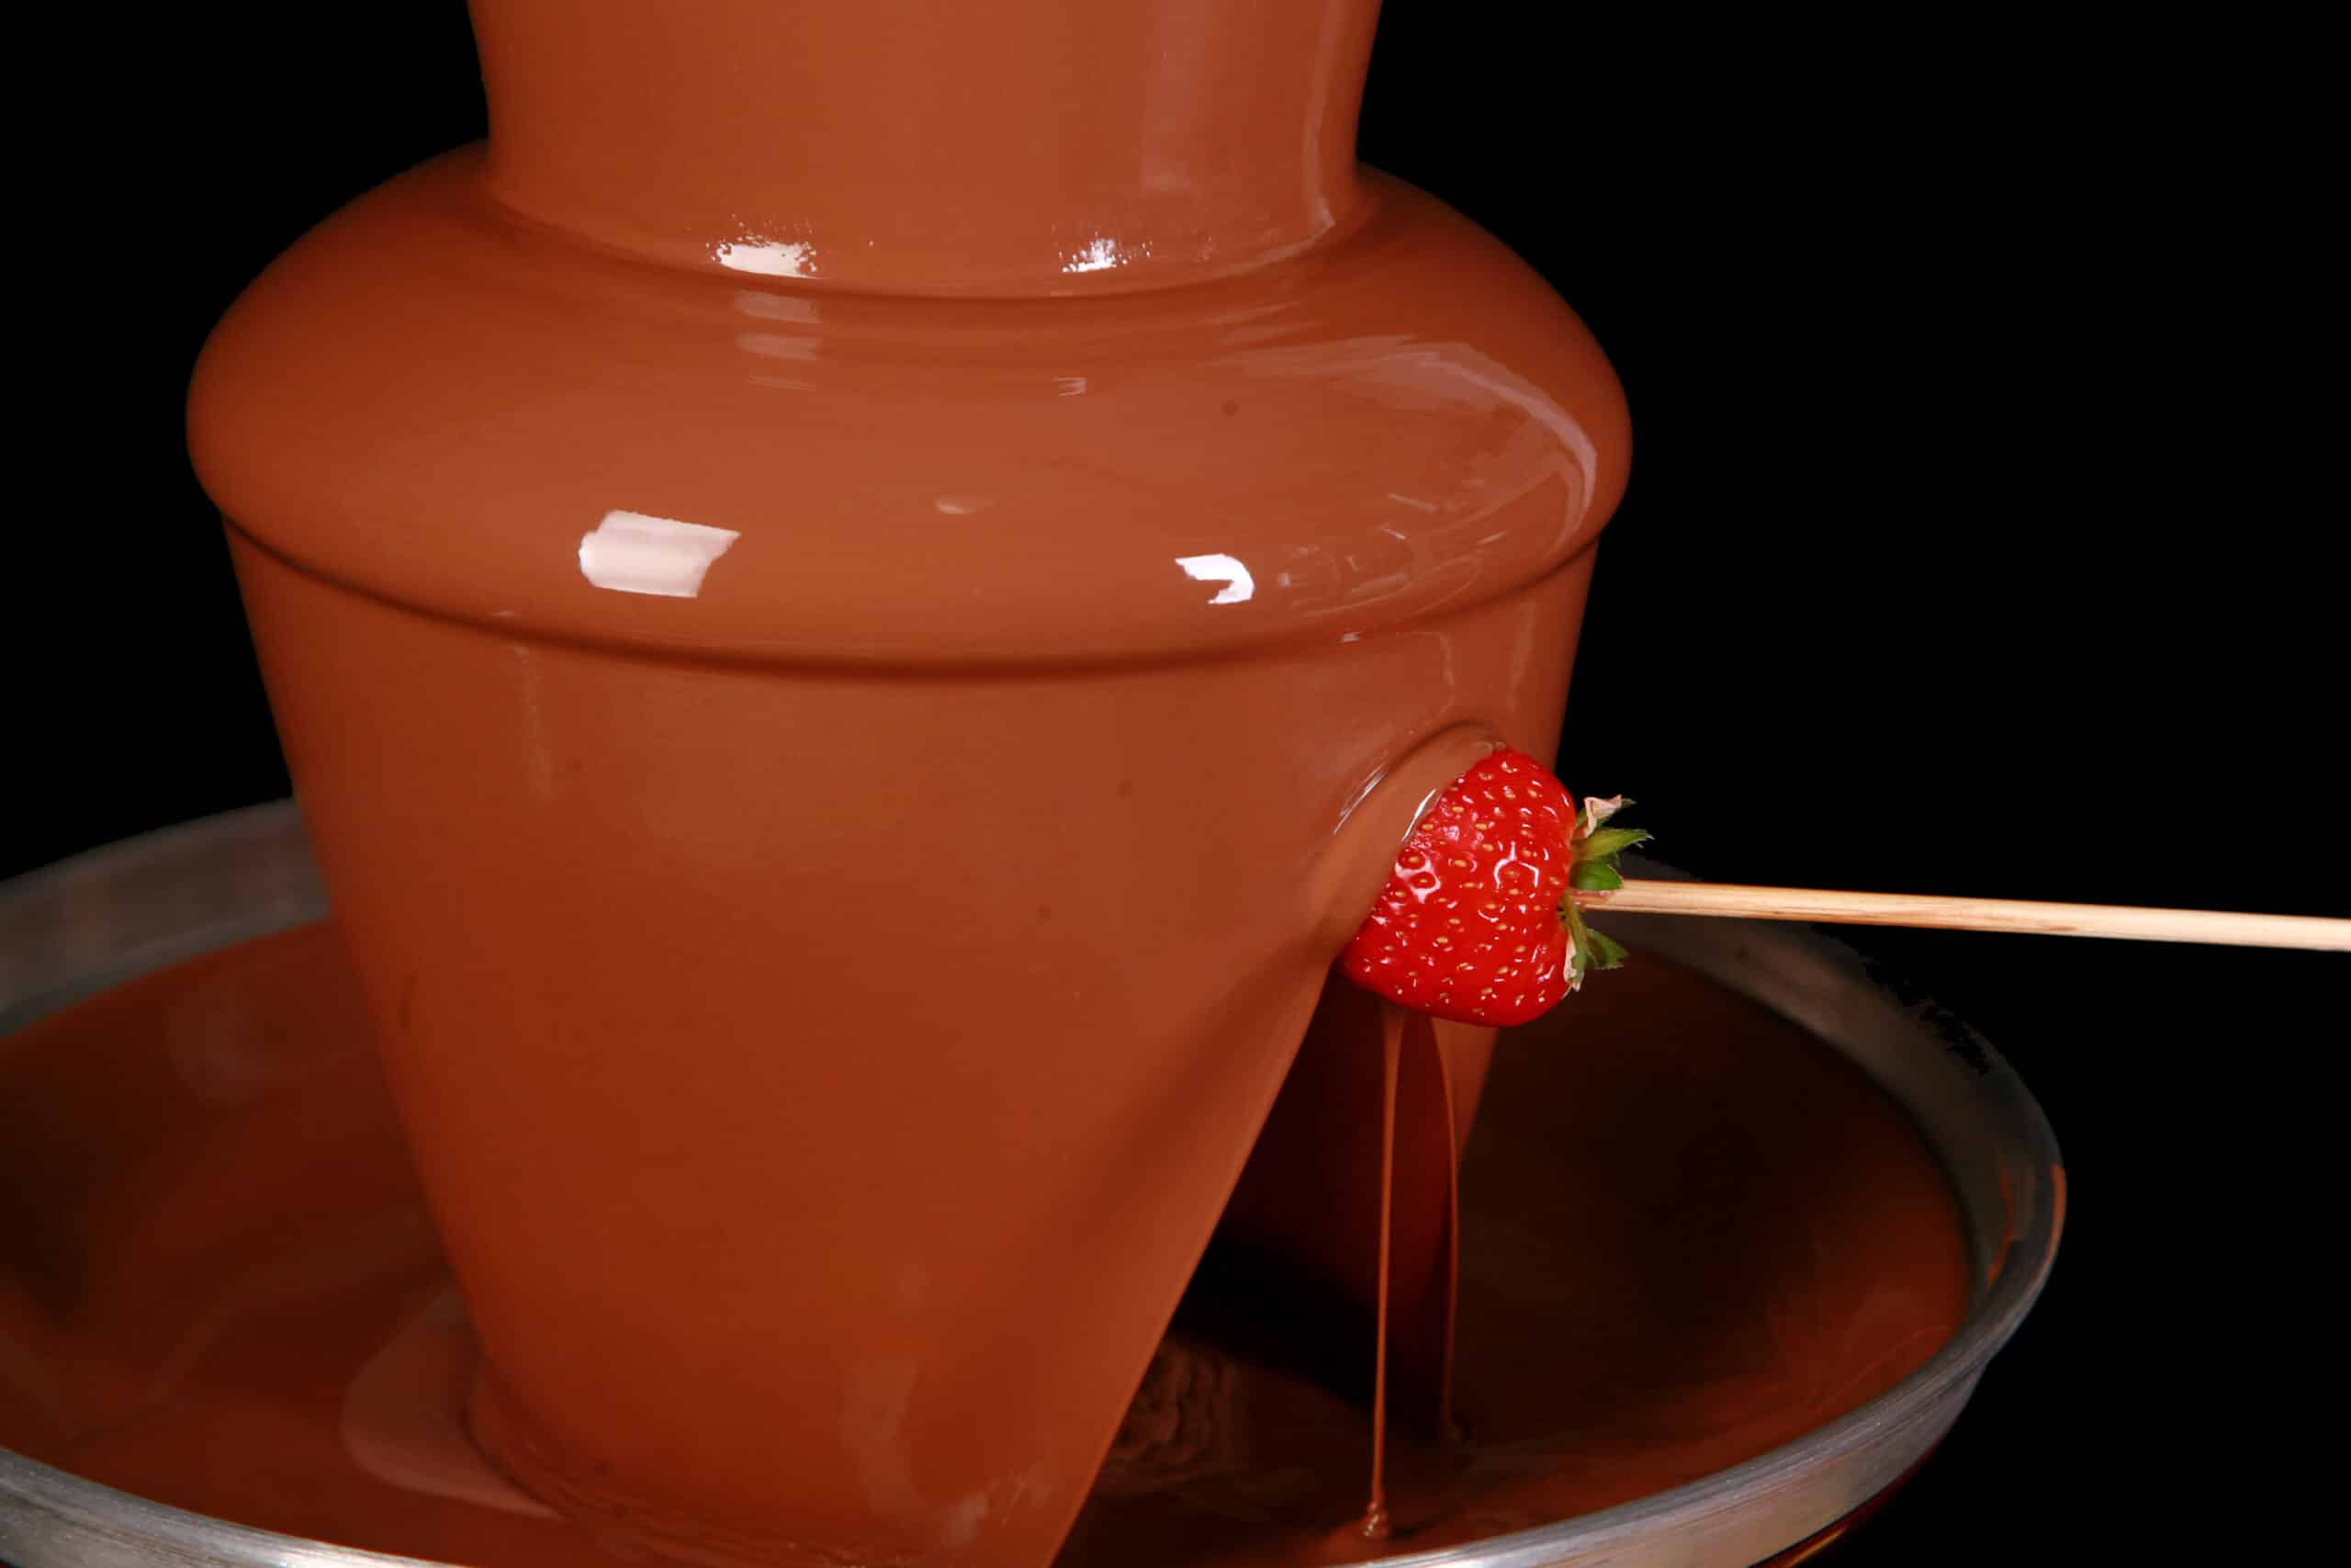
<path id="1" fill-rule="evenodd" d="M 1368 0 L 473 12 L 491 141 L 190 442 L 477 1432 L 1039 1568 L 1415 809 L 1556 745 L 1615 378 L 1354 165 Z"/>

